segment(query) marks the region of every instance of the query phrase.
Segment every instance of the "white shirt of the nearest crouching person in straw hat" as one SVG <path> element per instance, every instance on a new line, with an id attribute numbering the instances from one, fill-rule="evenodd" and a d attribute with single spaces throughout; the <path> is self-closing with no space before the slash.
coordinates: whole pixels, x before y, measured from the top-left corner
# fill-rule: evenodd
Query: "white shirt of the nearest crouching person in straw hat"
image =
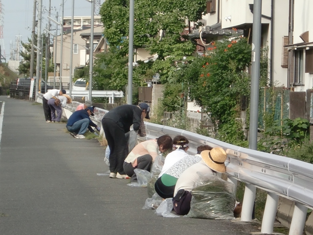
<path id="1" fill-rule="evenodd" d="M 203 160 L 201 160 L 199 163 L 188 167 L 184 172 L 182 172 L 176 183 L 174 196 L 177 194 L 179 189 L 185 189 L 186 191 L 190 192 L 193 189 L 197 180 L 199 179 L 198 172 L 201 172 L 203 174 L 212 173 L 213 175 L 213 171 L 203 162 Z"/>

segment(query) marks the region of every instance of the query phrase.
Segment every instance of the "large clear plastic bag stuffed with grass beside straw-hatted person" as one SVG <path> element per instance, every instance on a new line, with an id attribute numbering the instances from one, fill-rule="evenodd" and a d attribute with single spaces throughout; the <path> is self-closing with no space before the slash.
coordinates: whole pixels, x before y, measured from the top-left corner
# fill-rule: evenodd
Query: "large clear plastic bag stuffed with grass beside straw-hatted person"
<path id="1" fill-rule="evenodd" d="M 199 174 L 186 217 L 234 219 L 235 185 L 212 174 Z"/>

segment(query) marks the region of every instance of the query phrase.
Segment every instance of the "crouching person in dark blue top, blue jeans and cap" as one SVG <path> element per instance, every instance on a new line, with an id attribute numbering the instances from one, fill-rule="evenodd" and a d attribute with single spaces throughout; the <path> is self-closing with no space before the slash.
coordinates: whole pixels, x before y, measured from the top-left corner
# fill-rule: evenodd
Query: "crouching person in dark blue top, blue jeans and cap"
<path id="1" fill-rule="evenodd" d="M 95 123 L 93 123 L 89 116 L 94 116 L 93 107 L 88 107 L 87 109 L 82 109 L 75 111 L 67 120 L 67 130 L 71 134 L 71 136 L 77 139 L 84 139 L 84 134 L 87 129 L 91 128 L 91 126 L 95 127 L 98 131 L 100 131 L 100 127 L 98 127 Z"/>

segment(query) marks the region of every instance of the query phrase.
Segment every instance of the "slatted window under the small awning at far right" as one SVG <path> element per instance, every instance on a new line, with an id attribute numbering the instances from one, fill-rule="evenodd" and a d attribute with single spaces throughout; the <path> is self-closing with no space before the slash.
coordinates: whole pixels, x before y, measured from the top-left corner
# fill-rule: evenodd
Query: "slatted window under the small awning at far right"
<path id="1" fill-rule="evenodd" d="M 303 84 L 303 50 L 291 50 L 290 84 Z"/>

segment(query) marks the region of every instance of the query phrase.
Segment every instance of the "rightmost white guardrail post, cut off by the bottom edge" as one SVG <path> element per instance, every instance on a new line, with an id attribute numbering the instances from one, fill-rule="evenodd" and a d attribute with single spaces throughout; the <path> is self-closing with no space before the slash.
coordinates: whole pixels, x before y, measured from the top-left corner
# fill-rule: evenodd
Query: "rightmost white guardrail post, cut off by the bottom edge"
<path id="1" fill-rule="evenodd" d="M 307 208 L 301 203 L 295 202 L 289 235 L 302 235 L 307 217 Z"/>

